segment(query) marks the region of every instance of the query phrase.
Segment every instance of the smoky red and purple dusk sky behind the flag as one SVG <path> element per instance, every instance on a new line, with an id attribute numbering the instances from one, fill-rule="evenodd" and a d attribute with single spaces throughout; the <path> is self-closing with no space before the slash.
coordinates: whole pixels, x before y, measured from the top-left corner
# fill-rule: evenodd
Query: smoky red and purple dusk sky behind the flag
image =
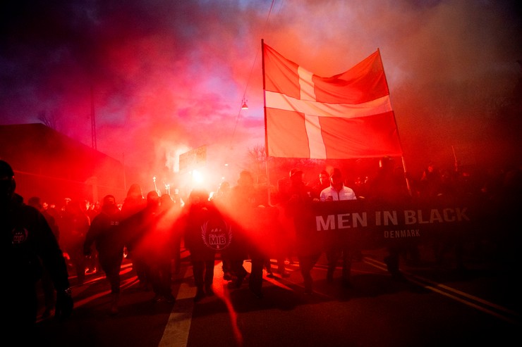
<path id="1" fill-rule="evenodd" d="M 516 162 L 518 2 L 2 1 L 0 124 L 44 115 L 91 146 L 94 101 L 109 156 L 177 170 L 179 153 L 207 145 L 217 165 L 240 168 L 265 144 L 265 39 L 324 77 L 380 49 L 412 170 L 452 163 L 453 150 L 468 165 Z"/>

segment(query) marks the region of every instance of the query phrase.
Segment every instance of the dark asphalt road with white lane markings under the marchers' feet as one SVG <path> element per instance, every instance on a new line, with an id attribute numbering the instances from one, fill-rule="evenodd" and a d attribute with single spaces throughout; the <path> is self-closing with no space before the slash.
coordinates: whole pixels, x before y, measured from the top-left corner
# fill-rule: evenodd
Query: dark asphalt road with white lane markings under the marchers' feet
<path id="1" fill-rule="evenodd" d="M 334 283 L 326 282 L 322 257 L 312 272 L 312 295 L 303 293 L 295 260 L 288 265 L 289 278 L 265 277 L 263 298 L 250 292 L 248 281 L 231 287 L 217 261 L 216 295 L 198 303 L 184 257 L 174 279 L 174 304 L 152 303 L 152 292 L 138 289 L 125 260 L 118 315 L 109 315 L 103 274 L 87 275 L 85 284 L 73 286 L 71 319 L 41 320 L 40 341 L 53 347 L 522 346 L 519 269 L 481 254 L 466 258 L 466 270 L 456 270 L 451 252 L 435 263 L 429 248 L 421 251 L 420 264 L 401 260 L 402 282 L 387 273 L 383 250 L 363 251 L 353 263 L 350 289 L 341 287 L 340 269 Z M 249 265 L 245 262 L 247 270 Z"/>

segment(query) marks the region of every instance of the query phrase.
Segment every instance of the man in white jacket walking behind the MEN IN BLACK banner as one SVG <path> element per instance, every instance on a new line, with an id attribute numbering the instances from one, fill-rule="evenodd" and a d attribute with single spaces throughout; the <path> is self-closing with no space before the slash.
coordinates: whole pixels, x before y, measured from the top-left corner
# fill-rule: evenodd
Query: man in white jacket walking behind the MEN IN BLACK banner
<path id="1" fill-rule="evenodd" d="M 357 200 L 357 197 L 353 189 L 344 185 L 341 170 L 334 168 L 332 175 L 330 175 L 330 187 L 324 188 L 321 191 L 320 201 L 341 200 Z M 337 260 L 339 260 L 339 257 L 342 255 L 342 284 L 346 287 L 351 286 L 351 252 L 349 246 L 341 238 L 341 235 L 338 234 L 329 234 L 324 246 L 328 260 L 327 282 L 334 282 L 334 271 L 337 266 Z"/>

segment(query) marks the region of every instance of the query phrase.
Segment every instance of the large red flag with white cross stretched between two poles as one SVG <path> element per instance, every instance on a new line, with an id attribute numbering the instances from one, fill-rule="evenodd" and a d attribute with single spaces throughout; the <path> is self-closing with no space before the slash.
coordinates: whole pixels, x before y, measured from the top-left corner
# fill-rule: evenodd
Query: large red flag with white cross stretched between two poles
<path id="1" fill-rule="evenodd" d="M 262 42 L 268 156 L 349 159 L 402 156 L 380 51 L 320 77 Z"/>

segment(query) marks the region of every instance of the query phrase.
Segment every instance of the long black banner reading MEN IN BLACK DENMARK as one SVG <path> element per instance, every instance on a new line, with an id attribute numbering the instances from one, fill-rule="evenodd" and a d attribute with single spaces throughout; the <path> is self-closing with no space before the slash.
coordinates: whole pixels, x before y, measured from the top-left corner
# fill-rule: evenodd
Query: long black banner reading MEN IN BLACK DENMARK
<path id="1" fill-rule="evenodd" d="M 425 201 L 404 205 L 367 201 L 312 203 L 303 211 L 301 237 L 311 243 L 341 242 L 358 248 L 462 241 L 490 222 L 477 201 Z"/>

